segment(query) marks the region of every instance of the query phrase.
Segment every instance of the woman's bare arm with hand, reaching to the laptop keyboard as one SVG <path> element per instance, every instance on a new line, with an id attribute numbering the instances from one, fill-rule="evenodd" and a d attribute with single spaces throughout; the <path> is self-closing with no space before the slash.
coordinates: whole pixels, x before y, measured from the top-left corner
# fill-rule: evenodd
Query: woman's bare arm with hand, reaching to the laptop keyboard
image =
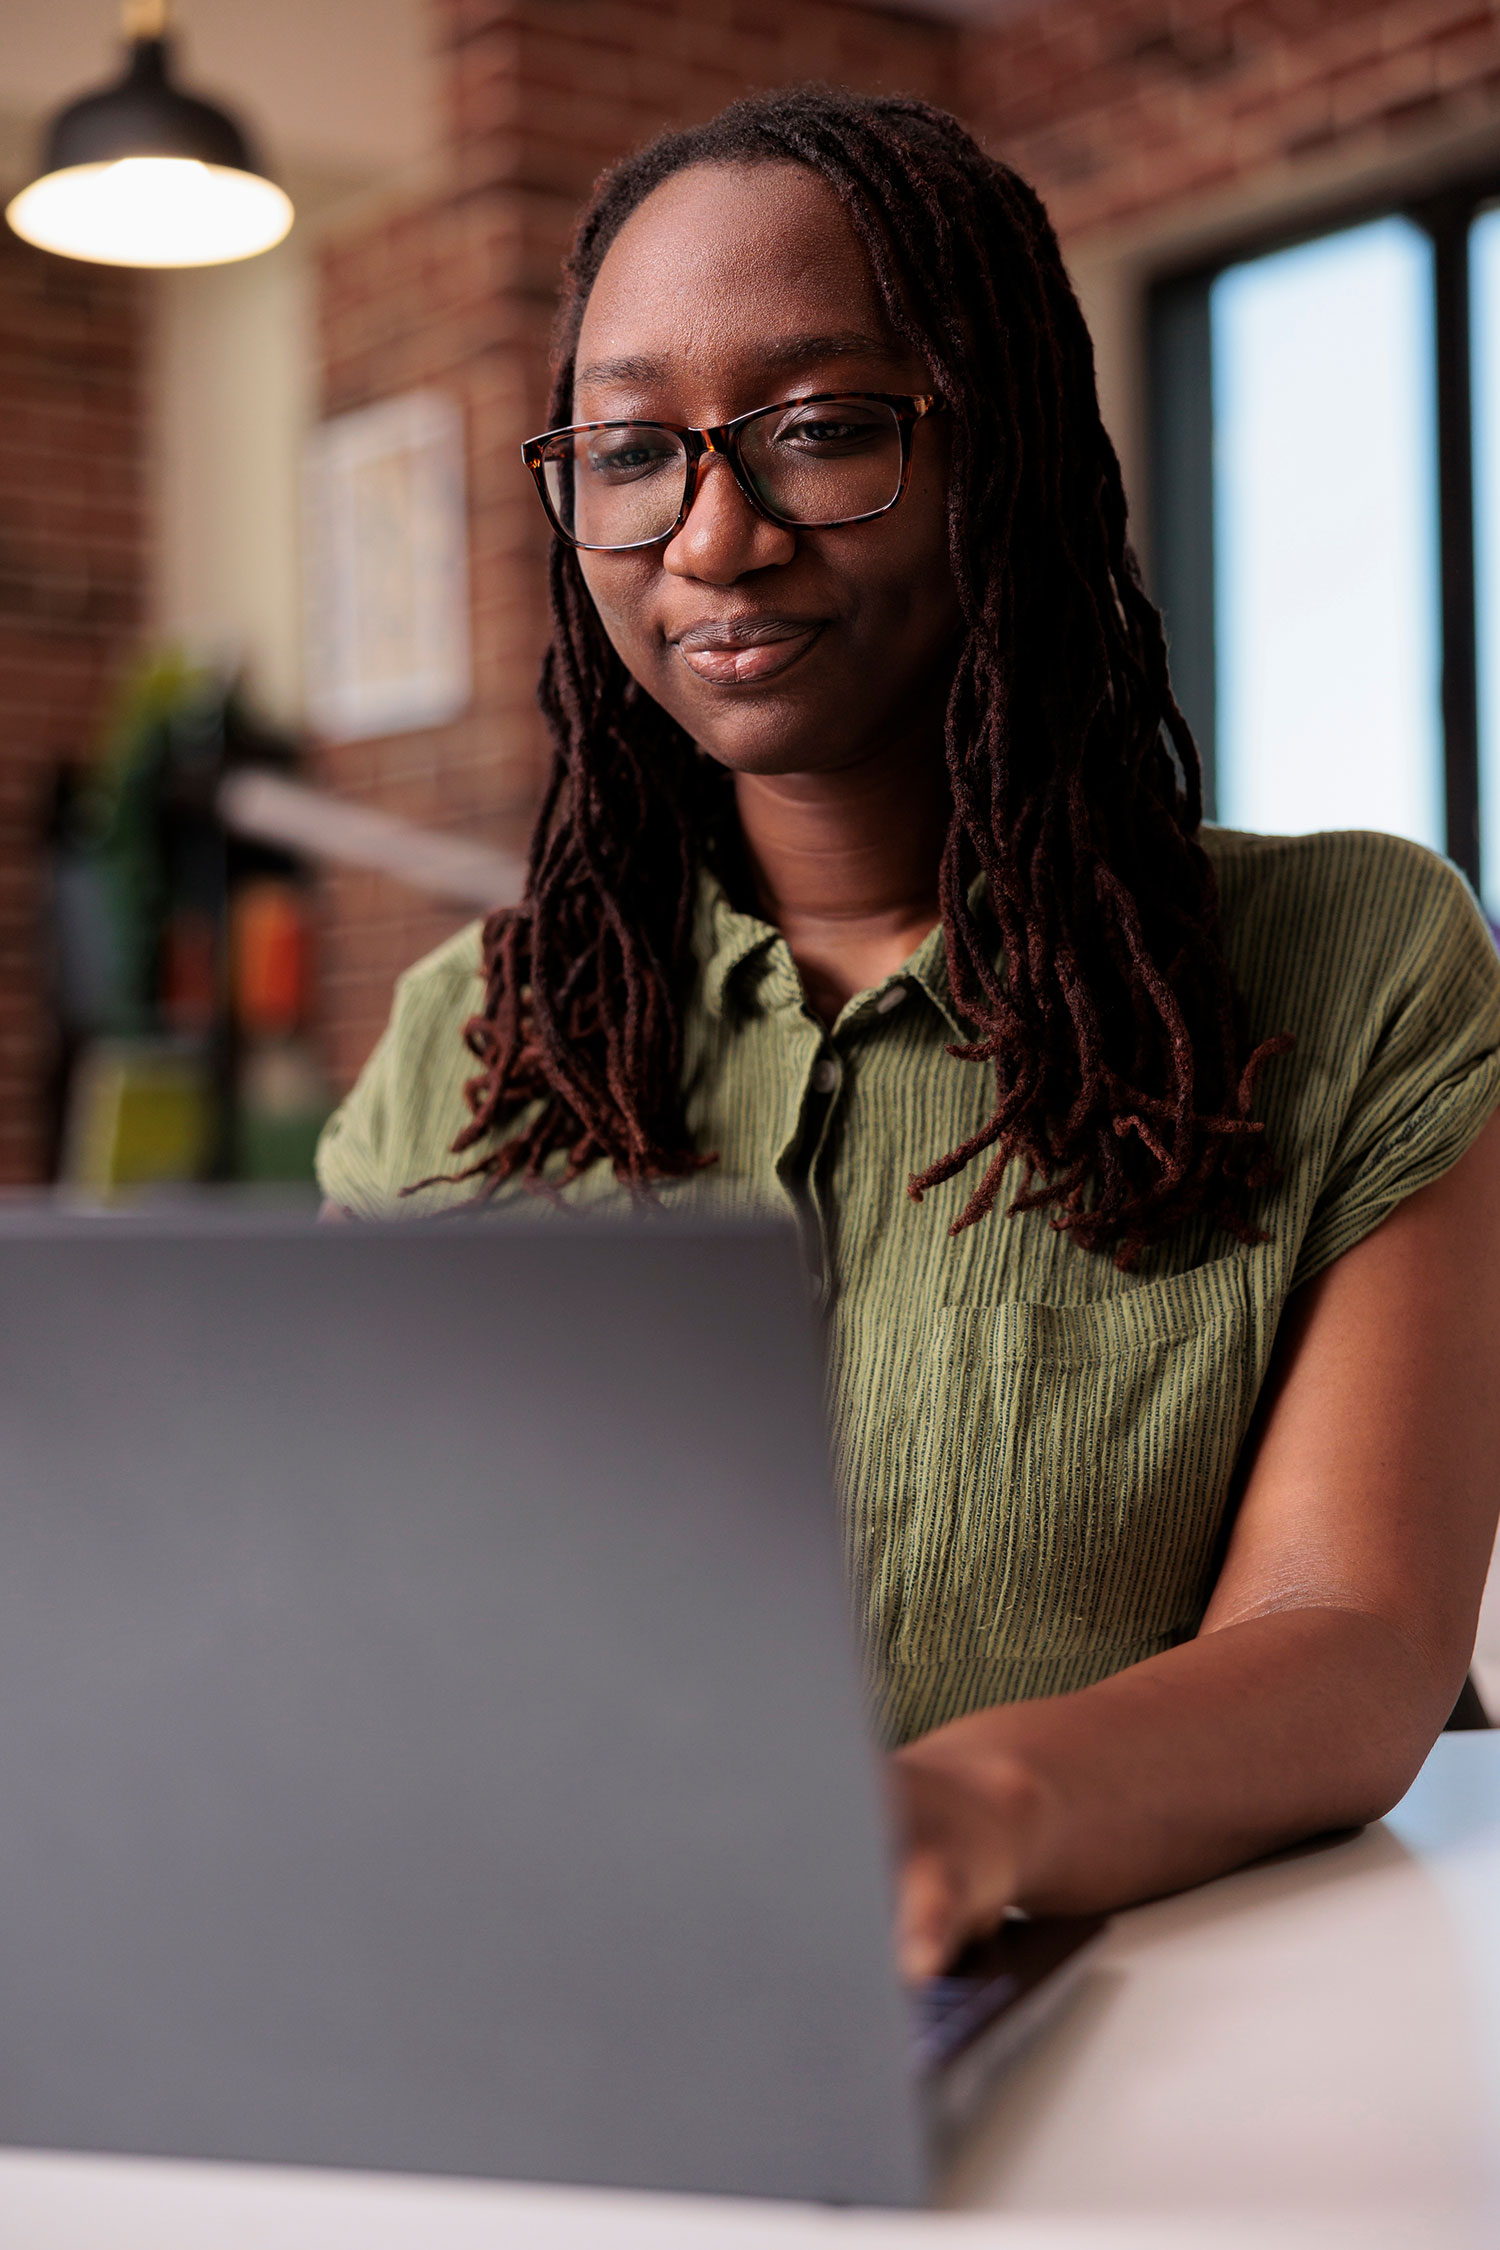
<path id="1" fill-rule="evenodd" d="M 1196 1640 L 893 1757 L 900 1944 L 1124 1906 L 1388 1811 L 1473 1649 L 1500 1501 L 1500 1116 L 1291 1300 Z"/>

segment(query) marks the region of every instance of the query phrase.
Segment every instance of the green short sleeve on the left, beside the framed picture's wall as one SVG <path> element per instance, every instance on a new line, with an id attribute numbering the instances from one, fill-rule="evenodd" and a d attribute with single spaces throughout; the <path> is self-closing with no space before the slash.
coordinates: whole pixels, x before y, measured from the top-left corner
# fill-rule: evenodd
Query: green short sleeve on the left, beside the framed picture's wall
<path id="1" fill-rule="evenodd" d="M 391 1217 L 445 1199 L 441 1188 L 403 1190 L 459 1170 L 452 1143 L 475 1069 L 463 1026 L 481 997 L 477 922 L 396 981 L 391 1019 L 317 1143 L 317 1184 L 331 1202 L 355 1217 Z"/>

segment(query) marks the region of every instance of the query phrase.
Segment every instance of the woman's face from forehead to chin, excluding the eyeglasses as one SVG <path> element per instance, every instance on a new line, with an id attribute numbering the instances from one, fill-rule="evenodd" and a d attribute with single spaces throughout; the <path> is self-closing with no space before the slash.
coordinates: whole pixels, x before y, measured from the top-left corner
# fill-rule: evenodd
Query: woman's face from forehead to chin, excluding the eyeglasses
<path id="1" fill-rule="evenodd" d="M 697 164 L 648 196 L 600 266 L 576 369 L 576 421 L 688 428 L 931 389 L 839 198 L 801 164 Z M 708 457 L 670 540 L 578 560 L 627 670 L 733 772 L 837 772 L 940 729 L 960 626 L 942 416 L 915 425 L 888 515 L 792 531 Z"/>

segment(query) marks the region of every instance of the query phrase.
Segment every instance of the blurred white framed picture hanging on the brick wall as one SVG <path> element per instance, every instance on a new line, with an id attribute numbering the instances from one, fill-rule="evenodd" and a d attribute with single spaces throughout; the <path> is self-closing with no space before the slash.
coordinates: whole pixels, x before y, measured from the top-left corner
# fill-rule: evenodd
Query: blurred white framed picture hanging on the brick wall
<path id="1" fill-rule="evenodd" d="M 304 459 L 308 716 L 335 742 L 441 727 L 472 693 L 463 414 L 407 392 Z"/>

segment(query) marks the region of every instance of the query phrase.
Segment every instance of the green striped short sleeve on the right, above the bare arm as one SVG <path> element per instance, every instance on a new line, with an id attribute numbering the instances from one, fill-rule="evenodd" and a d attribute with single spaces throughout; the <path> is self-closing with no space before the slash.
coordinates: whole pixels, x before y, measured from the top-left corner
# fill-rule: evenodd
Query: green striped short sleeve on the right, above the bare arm
<path id="1" fill-rule="evenodd" d="M 1457 1163 L 1500 1102 L 1500 956 L 1473 891 L 1433 853 L 1358 842 L 1381 846 L 1381 911 L 1363 927 L 1376 1022 L 1293 1287 Z M 1352 1028 L 1347 1037 L 1363 1046 Z"/>

